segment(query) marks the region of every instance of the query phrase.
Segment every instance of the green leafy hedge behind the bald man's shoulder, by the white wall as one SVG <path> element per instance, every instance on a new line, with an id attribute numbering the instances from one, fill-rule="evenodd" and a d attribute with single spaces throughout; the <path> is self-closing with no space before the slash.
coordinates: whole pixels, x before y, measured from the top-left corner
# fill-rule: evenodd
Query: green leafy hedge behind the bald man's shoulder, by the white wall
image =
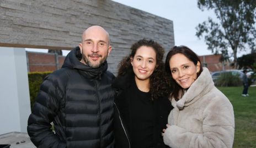
<path id="1" fill-rule="evenodd" d="M 29 77 L 29 95 L 30 95 L 31 108 L 34 105 L 34 102 L 36 101 L 36 96 L 38 95 L 38 92 L 40 90 L 40 85 L 41 85 L 42 81 L 44 80 L 45 76 L 47 76 L 50 73 L 52 73 L 52 72 L 28 73 L 28 77 Z"/>

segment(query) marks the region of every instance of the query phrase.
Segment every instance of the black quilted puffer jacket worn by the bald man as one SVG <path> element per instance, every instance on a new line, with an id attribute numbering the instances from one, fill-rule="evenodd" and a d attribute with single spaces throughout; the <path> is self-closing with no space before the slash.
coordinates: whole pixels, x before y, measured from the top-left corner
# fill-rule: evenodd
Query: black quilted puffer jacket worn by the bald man
<path id="1" fill-rule="evenodd" d="M 41 84 L 28 119 L 28 134 L 38 147 L 114 147 L 114 75 L 106 62 L 90 68 L 80 59 L 76 47 Z"/>

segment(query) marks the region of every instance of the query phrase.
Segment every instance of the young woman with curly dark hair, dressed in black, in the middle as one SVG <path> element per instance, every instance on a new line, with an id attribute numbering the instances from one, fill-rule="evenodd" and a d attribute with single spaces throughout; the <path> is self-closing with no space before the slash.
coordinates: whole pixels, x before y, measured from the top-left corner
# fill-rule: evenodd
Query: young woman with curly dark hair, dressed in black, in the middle
<path id="1" fill-rule="evenodd" d="M 161 136 L 172 109 L 163 54 L 161 45 L 143 39 L 120 62 L 113 83 L 115 147 L 168 147 Z"/>

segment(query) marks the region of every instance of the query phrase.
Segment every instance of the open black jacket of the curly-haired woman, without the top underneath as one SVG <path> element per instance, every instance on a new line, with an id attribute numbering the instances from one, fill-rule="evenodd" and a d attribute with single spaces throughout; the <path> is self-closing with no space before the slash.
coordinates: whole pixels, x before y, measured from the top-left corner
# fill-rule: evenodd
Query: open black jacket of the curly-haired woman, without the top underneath
<path id="1" fill-rule="evenodd" d="M 124 93 L 130 86 L 132 79 L 134 79 L 134 74 L 129 73 L 125 76 L 121 76 L 115 79 L 113 87 L 116 89 L 115 101 L 114 101 L 114 136 L 115 136 L 115 147 L 116 148 L 131 148 L 131 141 L 129 136 L 129 131 L 127 131 L 127 123 L 124 123 L 124 119 L 120 113 L 121 106 L 129 105 L 129 101 L 122 99 L 121 94 Z M 129 93 L 126 93 L 129 94 Z M 129 98 L 129 97 L 126 97 Z M 156 126 L 154 127 L 154 147 L 168 147 L 164 145 L 162 138 L 162 129 L 166 128 L 168 115 L 170 110 L 173 108 L 168 97 L 158 98 L 154 104 L 156 105 Z M 130 107 L 127 107 L 130 108 Z M 143 141 L 141 141 L 143 142 Z"/>

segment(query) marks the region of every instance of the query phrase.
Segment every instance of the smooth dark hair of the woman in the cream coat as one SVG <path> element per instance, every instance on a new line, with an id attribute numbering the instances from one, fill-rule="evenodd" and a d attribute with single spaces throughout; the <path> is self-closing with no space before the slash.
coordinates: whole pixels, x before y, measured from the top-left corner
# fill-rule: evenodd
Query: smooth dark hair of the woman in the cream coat
<path id="1" fill-rule="evenodd" d="M 192 50 L 190 50 L 190 48 L 188 48 L 186 46 L 174 46 L 172 49 L 170 49 L 170 51 L 167 53 L 167 56 L 166 56 L 166 72 L 168 74 L 170 74 L 171 81 L 173 84 L 173 92 L 170 95 L 170 98 L 173 97 L 176 101 L 178 101 L 180 99 L 180 97 L 179 97 L 180 90 L 182 91 L 181 96 L 184 95 L 184 89 L 181 86 L 179 86 L 179 84 L 176 83 L 176 81 L 172 78 L 172 72 L 170 72 L 170 63 L 169 63 L 170 58 L 172 58 L 172 56 L 174 56 L 177 53 L 183 54 L 186 58 L 188 58 L 195 65 L 198 62 L 200 63 L 200 70 L 199 70 L 199 73 L 197 74 L 197 78 L 202 73 L 201 61 L 200 61 L 199 57 L 196 55 L 196 53 L 193 52 Z"/>

